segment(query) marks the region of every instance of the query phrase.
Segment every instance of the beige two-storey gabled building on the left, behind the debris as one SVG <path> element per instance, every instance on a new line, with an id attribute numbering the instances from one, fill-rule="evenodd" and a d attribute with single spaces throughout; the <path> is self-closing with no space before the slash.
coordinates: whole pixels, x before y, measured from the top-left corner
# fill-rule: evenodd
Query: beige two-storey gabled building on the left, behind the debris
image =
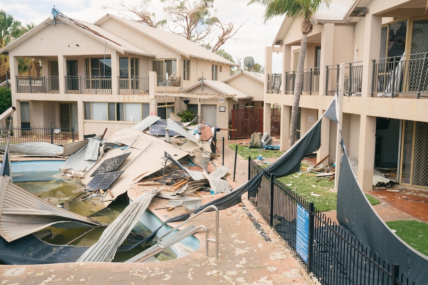
<path id="1" fill-rule="evenodd" d="M 79 139 L 105 129 L 108 137 L 148 115 L 168 118 L 182 110 L 227 137 L 230 110 L 254 97 L 245 93 L 251 90 L 233 90 L 239 89 L 230 79 L 235 63 L 179 35 L 112 14 L 87 23 L 55 13 L 0 53 L 10 60 L 13 124 L 73 127 Z M 41 60 L 41 76 L 19 75 L 19 57 Z M 204 79 L 229 80 L 224 84 L 232 89 L 191 90 Z M 259 107 L 262 90 L 261 98 L 255 96 Z"/>

